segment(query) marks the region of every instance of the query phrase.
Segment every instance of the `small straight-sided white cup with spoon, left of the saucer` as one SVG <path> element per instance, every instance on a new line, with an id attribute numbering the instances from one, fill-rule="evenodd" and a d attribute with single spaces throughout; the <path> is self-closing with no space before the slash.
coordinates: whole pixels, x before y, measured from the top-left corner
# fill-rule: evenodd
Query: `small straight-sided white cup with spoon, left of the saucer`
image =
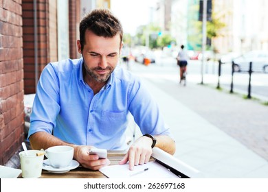
<path id="1" fill-rule="evenodd" d="M 27 150 L 27 152 L 20 152 L 19 157 L 21 159 L 21 171 L 23 178 L 41 177 L 44 152 L 40 150 Z"/>

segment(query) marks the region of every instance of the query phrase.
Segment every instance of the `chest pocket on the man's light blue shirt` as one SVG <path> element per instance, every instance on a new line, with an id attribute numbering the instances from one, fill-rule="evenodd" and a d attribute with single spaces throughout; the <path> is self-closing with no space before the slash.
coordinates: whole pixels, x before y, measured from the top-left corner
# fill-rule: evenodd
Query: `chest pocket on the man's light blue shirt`
<path id="1" fill-rule="evenodd" d="M 100 133 L 115 136 L 126 128 L 126 112 L 102 111 Z"/>

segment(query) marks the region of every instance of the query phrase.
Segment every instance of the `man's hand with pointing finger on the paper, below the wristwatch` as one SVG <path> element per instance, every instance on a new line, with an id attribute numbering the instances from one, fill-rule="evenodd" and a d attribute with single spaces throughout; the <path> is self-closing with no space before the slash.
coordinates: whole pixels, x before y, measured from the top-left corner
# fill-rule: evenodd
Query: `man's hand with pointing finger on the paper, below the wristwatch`
<path id="1" fill-rule="evenodd" d="M 151 145 L 153 141 L 147 136 L 141 136 L 126 153 L 124 158 L 120 161 L 120 165 L 126 164 L 129 161 L 129 169 L 133 170 L 134 165 L 143 165 L 148 163 L 150 156 L 153 153 Z"/>

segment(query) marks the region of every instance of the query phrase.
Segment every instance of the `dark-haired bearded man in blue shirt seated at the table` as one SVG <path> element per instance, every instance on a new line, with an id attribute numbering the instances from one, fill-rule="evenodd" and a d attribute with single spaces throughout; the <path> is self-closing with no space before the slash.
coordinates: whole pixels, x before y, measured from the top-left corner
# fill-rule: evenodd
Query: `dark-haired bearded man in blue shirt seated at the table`
<path id="1" fill-rule="evenodd" d="M 89 149 L 127 149 L 124 135 L 131 112 L 144 136 L 120 164 L 129 162 L 132 170 L 147 163 L 152 147 L 175 153 L 155 101 L 137 77 L 117 67 L 122 36 L 122 25 L 109 10 L 93 10 L 80 22 L 82 58 L 47 64 L 38 82 L 28 134 L 33 149 L 71 145 L 83 167 L 98 170 L 109 159 L 89 155 Z"/>

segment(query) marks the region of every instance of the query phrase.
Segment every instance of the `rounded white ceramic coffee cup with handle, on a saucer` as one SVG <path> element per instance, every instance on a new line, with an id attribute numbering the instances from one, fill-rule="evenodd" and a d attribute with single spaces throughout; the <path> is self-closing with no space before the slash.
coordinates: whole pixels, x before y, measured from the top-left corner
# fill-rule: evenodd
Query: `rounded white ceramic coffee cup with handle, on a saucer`
<path id="1" fill-rule="evenodd" d="M 71 164 L 74 158 L 74 147 L 67 145 L 58 145 L 45 149 L 45 156 L 49 164 L 54 168 L 64 168 Z"/>

